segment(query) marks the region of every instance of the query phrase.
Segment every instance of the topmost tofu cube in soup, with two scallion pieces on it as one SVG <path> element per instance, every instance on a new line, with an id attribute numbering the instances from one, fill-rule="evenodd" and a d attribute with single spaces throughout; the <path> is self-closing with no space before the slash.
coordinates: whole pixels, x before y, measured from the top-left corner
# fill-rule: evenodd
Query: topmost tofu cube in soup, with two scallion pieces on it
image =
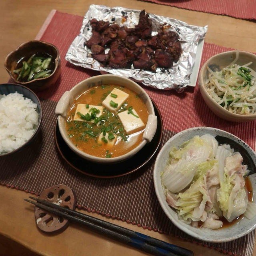
<path id="1" fill-rule="evenodd" d="M 111 94 L 116 94 L 117 97 L 114 98 L 111 96 Z M 125 102 L 125 100 L 128 98 L 129 94 L 127 94 L 126 92 L 123 92 L 122 90 L 119 90 L 117 88 L 114 88 L 112 90 L 112 92 L 110 92 L 110 94 L 108 94 L 108 96 L 106 97 L 105 100 L 103 100 L 102 105 L 107 108 L 108 110 L 112 111 L 112 112 L 117 112 L 118 109 L 120 108 L 120 106 Z M 118 104 L 118 106 L 116 108 L 114 108 L 113 106 L 110 105 L 110 101 L 113 101 L 115 103 Z"/>

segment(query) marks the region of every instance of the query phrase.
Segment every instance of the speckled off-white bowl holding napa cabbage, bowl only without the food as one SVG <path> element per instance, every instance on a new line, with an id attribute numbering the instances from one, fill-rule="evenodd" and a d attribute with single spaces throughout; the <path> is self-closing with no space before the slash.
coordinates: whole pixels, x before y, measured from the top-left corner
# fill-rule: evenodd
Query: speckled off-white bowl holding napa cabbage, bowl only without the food
<path id="1" fill-rule="evenodd" d="M 172 223 L 180 228 L 182 231 L 186 232 L 190 236 L 193 236 L 194 238 L 207 242 L 228 242 L 244 236 L 254 230 L 254 228 L 256 228 L 256 217 L 252 218 L 252 220 L 248 220 L 244 217 L 237 224 L 234 224 L 227 228 L 220 228 L 218 230 L 211 230 L 209 228 L 194 228 L 182 222 L 178 218 L 178 214 L 176 213 L 176 211 L 168 206 L 168 204 L 166 203 L 166 196 L 164 195 L 164 191 L 162 189 L 160 173 L 164 170 L 164 167 L 166 166 L 166 162 L 169 158 L 170 149 L 173 146 L 179 147 L 183 142 L 193 138 L 196 135 L 202 136 L 206 133 L 211 134 L 214 137 L 221 136 L 216 137 L 219 142 L 222 142 L 223 144 L 226 141 L 226 143 L 231 144 L 231 148 L 234 148 L 235 150 L 238 148 L 240 149 L 239 152 L 244 158 L 244 164 L 248 164 L 250 168 L 253 169 L 251 171 L 254 172 L 254 174 L 251 174 L 249 177 L 252 183 L 252 188 L 254 191 L 256 191 L 256 154 L 252 150 L 252 148 L 250 148 L 238 137 L 223 130 L 209 127 L 195 127 L 184 130 L 174 135 L 172 138 L 170 138 L 170 140 L 166 142 L 166 144 L 164 144 L 164 146 L 160 150 L 154 166 L 154 186 L 156 196 L 165 214 L 172 221 Z M 255 196 L 253 201 L 256 202 Z"/>

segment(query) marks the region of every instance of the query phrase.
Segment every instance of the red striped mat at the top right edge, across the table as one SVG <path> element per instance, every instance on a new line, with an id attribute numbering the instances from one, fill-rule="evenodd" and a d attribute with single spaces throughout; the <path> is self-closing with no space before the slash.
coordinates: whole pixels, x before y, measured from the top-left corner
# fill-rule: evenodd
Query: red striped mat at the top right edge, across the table
<path id="1" fill-rule="evenodd" d="M 256 20 L 256 0 L 141 0 L 198 12 L 226 15 L 244 20 Z"/>

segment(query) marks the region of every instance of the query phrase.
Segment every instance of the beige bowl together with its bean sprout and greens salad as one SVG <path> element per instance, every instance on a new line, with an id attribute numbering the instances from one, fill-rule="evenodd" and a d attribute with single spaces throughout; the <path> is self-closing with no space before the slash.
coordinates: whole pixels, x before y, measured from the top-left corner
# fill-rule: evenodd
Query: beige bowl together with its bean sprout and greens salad
<path id="1" fill-rule="evenodd" d="M 199 88 L 207 106 L 222 119 L 256 119 L 256 55 L 230 51 L 216 54 L 202 66 Z"/>

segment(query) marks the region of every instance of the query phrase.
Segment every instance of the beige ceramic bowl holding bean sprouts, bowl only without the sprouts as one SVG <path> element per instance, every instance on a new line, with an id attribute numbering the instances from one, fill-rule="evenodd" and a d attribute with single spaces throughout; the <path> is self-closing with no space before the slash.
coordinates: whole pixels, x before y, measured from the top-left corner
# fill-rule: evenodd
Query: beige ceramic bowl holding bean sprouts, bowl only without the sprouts
<path id="1" fill-rule="evenodd" d="M 204 65 L 202 66 L 199 74 L 199 89 L 202 94 L 202 97 L 206 103 L 206 105 L 222 119 L 232 121 L 232 122 L 248 122 L 253 121 L 256 119 L 256 114 L 235 114 L 232 113 L 222 106 L 218 104 L 206 91 L 206 81 L 208 78 L 208 70 L 207 67 L 214 68 L 217 70 L 221 70 L 222 68 L 228 66 L 234 59 L 236 58 L 236 51 L 230 51 L 230 52 L 222 52 L 220 54 L 216 54 L 212 56 L 210 59 L 208 59 Z M 236 64 L 243 65 L 248 62 L 252 62 L 250 65 L 250 68 L 253 70 L 256 70 L 256 55 L 249 53 L 249 52 L 242 52 L 239 51 L 238 60 L 236 61 Z M 216 70 L 214 70 L 216 71 Z"/>

